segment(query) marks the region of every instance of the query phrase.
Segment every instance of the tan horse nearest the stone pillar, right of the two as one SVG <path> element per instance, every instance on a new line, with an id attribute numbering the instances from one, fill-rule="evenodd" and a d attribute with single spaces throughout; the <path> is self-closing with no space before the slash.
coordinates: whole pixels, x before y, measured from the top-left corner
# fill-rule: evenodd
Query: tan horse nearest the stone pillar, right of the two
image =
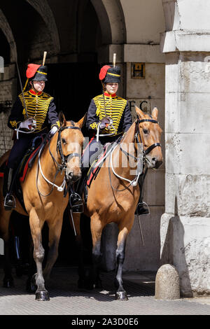
<path id="1" fill-rule="evenodd" d="M 160 144 L 162 129 L 158 124 L 158 109 L 154 108 L 152 115 L 148 115 L 136 106 L 136 112 L 137 120 L 107 156 L 96 178 L 92 180 L 90 188 L 87 188 L 88 195 L 84 214 L 90 218 L 92 268 L 88 275 L 88 270 L 84 271 L 85 267 L 81 262 L 78 268 L 78 285 L 81 284 L 81 288 L 85 286 L 85 288 L 91 289 L 94 286 L 100 286 L 98 269 L 101 260 L 102 230 L 109 223 L 117 223 L 119 232 L 114 280 L 117 300 L 128 300 L 127 293 L 123 288 L 122 272 L 125 244 L 134 223 L 134 214 L 140 195 L 137 181 L 144 176 L 147 168 L 158 169 L 162 164 Z M 143 148 L 141 147 L 138 155 L 138 147 L 142 144 Z M 142 172 L 138 172 L 138 162 L 142 160 L 141 156 L 143 156 L 144 165 L 141 167 Z M 135 164 L 132 164 L 132 160 Z M 116 167 L 115 163 L 118 163 Z M 135 174 L 131 172 L 131 169 L 136 169 Z M 73 217 L 78 230 L 78 241 L 81 241 L 79 226 L 81 218 L 79 214 L 74 214 Z"/>

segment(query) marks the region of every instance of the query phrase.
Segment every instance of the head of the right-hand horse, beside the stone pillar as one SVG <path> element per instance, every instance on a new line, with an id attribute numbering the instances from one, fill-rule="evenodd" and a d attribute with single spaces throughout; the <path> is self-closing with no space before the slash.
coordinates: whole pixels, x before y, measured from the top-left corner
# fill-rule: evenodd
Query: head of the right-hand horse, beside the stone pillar
<path id="1" fill-rule="evenodd" d="M 158 124 L 158 109 L 155 107 L 151 116 L 141 111 L 137 106 L 136 112 L 139 116 L 137 122 L 148 167 L 158 169 L 162 165 L 162 149 L 160 146 L 162 129 Z"/>

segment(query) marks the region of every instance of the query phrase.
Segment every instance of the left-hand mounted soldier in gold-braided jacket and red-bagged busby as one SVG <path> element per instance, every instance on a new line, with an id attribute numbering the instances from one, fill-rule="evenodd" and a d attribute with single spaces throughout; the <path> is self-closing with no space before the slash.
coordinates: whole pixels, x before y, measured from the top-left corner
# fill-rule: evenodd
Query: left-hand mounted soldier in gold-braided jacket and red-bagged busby
<path id="1" fill-rule="evenodd" d="M 20 164 L 31 141 L 49 130 L 52 136 L 59 128 L 59 119 L 53 97 L 43 92 L 47 80 L 46 66 L 28 64 L 27 83 L 29 82 L 29 90 L 18 96 L 8 118 L 8 127 L 16 130 L 17 140 L 10 151 L 4 174 L 4 207 L 6 210 L 15 207 L 15 199 L 10 189 L 13 171 Z"/>

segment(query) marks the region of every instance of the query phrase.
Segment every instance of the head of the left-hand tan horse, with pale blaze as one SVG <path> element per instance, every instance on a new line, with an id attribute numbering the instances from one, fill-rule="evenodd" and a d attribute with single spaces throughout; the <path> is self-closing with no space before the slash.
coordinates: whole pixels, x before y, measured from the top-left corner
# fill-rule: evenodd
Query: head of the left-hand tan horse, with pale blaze
<path id="1" fill-rule="evenodd" d="M 62 158 L 62 162 L 65 162 L 66 178 L 74 183 L 81 177 L 80 167 L 83 151 L 81 128 L 84 118 L 79 120 L 78 123 L 74 123 L 73 121 L 66 121 L 64 114 L 59 113 L 59 120 L 62 124 L 57 132 L 59 155 Z"/>

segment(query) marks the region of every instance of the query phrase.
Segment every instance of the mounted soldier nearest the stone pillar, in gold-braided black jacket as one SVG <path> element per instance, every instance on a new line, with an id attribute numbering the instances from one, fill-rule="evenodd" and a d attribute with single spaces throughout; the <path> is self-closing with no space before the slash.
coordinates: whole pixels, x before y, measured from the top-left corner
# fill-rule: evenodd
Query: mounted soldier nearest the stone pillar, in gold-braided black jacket
<path id="1" fill-rule="evenodd" d="M 83 154 L 84 167 L 92 164 L 97 155 L 101 153 L 104 144 L 120 141 L 120 137 L 132 125 L 127 100 L 116 94 L 120 83 L 120 67 L 104 65 L 99 73 L 99 80 L 102 81 L 104 92 L 91 100 L 87 111 L 86 125 L 91 140 Z M 100 137 L 100 134 L 103 136 Z M 148 208 L 144 207 L 141 186 L 140 190 L 137 214 L 148 214 Z"/>

